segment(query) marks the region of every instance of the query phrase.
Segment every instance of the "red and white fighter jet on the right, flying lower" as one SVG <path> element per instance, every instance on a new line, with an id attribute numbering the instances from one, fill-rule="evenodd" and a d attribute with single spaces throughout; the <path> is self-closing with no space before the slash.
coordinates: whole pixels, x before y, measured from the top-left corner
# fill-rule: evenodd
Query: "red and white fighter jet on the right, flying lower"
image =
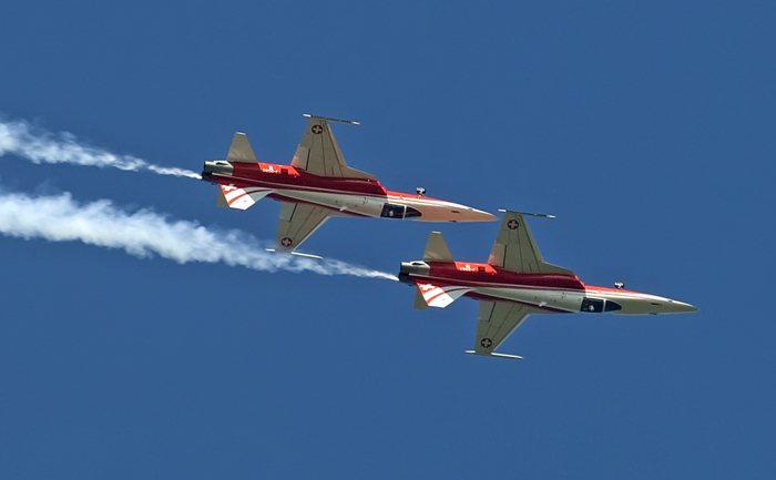
<path id="1" fill-rule="evenodd" d="M 417 286 L 415 308 L 445 308 L 467 296 L 480 300 L 474 349 L 467 354 L 522 358 L 494 350 L 529 315 L 584 312 L 658 315 L 697 312 L 690 304 L 623 289 L 594 287 L 542 258 L 525 215 L 504 212 L 488 263 L 455 262 L 445 238 L 432 232 L 422 262 L 401 263 L 399 280 Z"/>

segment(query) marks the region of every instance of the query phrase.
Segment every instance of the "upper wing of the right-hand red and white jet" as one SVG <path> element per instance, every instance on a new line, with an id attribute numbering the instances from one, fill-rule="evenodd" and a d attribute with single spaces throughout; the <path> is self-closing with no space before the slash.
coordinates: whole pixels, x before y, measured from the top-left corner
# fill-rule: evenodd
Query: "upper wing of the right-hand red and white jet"
<path id="1" fill-rule="evenodd" d="M 525 223 L 524 214 L 507 212 L 488 263 L 519 274 L 574 275 L 570 269 L 548 264 Z"/>

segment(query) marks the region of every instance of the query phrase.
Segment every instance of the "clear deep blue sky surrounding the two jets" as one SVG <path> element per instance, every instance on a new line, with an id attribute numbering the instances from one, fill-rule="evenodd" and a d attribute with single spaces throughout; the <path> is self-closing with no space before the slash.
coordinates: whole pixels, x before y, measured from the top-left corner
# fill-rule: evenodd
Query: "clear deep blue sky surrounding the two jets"
<path id="1" fill-rule="evenodd" d="M 288 163 L 314 113 L 390 190 L 531 221 L 547 261 L 694 315 L 530 318 L 384 279 L 0 237 L 0 478 L 773 478 L 776 4 L 7 2 L 0 111 L 198 171 L 235 131 Z M 274 239 L 279 205 L 188 178 L 0 159 L 71 192 Z M 336 218 L 304 251 L 385 272 L 441 231 Z"/>

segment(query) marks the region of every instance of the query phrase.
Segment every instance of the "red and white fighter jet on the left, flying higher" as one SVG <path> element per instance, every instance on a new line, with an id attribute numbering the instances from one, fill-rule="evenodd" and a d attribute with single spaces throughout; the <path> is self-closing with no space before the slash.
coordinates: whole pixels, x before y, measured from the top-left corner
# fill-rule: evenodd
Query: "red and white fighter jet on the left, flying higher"
<path id="1" fill-rule="evenodd" d="M 295 253 L 333 216 L 385 217 L 419 222 L 490 222 L 494 215 L 417 194 L 389 192 L 374 175 L 350 168 L 329 122 L 309 119 L 290 165 L 261 163 L 244 133 L 235 133 L 226 160 L 205 162 L 202 180 L 219 186 L 216 205 L 246 210 L 266 197 L 282 202 L 276 252 Z M 302 254 L 297 254 L 302 255 Z M 307 255 L 314 256 L 314 255 Z"/>

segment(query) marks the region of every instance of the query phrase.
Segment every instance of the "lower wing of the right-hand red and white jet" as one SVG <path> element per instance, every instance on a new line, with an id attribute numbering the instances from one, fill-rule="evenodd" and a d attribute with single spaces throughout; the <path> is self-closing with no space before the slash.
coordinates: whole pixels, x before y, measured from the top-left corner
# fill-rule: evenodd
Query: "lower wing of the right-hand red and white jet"
<path id="1" fill-rule="evenodd" d="M 541 310 L 511 302 L 480 300 L 477 339 L 474 340 L 474 350 L 471 353 L 477 355 L 522 358 L 493 354 L 493 350 L 496 350 L 507 337 L 512 335 L 512 331 L 514 331 L 529 315 L 539 313 L 541 313 Z"/>

